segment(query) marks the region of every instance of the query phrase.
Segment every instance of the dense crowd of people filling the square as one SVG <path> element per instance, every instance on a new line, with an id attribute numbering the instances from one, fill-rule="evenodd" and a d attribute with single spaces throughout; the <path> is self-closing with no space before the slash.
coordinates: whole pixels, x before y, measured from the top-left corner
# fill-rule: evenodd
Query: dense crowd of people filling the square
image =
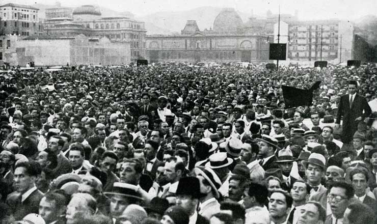
<path id="1" fill-rule="evenodd" d="M 2 223 L 377 223 L 375 65 L 9 69 Z"/>

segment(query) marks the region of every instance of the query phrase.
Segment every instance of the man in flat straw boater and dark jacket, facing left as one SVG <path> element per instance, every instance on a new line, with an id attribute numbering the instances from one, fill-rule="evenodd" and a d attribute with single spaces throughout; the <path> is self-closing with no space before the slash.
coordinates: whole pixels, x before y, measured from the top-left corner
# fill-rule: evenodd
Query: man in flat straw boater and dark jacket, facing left
<path id="1" fill-rule="evenodd" d="M 275 163 L 278 159 L 275 156 L 275 150 L 279 149 L 278 141 L 271 136 L 262 134 L 260 138 L 256 138 L 259 146 L 259 155 L 262 159 L 259 160 L 259 164 L 266 171 L 268 169 L 279 168 Z"/>

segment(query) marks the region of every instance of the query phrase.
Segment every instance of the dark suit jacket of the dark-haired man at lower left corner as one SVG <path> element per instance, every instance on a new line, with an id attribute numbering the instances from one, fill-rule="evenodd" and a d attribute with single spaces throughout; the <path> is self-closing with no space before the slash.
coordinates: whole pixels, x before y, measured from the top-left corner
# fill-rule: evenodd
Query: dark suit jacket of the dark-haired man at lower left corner
<path id="1" fill-rule="evenodd" d="M 36 189 L 21 203 L 21 193 L 14 191 L 8 195 L 6 202 L 15 220 L 21 220 L 27 214 L 38 214 L 39 202 L 42 198 L 43 193 Z"/>

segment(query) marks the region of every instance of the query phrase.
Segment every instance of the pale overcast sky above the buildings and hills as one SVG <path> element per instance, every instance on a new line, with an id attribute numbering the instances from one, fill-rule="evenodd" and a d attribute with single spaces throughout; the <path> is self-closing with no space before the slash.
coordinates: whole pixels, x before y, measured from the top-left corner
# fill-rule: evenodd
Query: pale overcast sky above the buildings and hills
<path id="1" fill-rule="evenodd" d="M 56 0 L 0 0 L 0 3 L 19 3 L 33 5 L 35 3 L 53 5 Z M 185 11 L 203 6 L 232 7 L 237 11 L 257 15 L 265 15 L 270 9 L 278 13 L 294 14 L 299 11 L 300 20 L 309 19 L 357 19 L 371 14 L 377 16 L 377 0 L 61 0 L 62 6 L 99 5 L 116 11 L 129 11 L 136 16 L 144 16 L 161 11 Z"/>

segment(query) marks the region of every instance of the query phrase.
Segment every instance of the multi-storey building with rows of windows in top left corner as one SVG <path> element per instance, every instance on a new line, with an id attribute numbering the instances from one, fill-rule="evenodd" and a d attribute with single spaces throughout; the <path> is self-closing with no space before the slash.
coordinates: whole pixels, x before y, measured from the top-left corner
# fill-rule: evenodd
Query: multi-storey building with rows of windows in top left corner
<path id="1" fill-rule="evenodd" d="M 0 6 L 0 35 L 38 36 L 43 33 L 38 10 L 32 6 L 5 4 Z"/>

